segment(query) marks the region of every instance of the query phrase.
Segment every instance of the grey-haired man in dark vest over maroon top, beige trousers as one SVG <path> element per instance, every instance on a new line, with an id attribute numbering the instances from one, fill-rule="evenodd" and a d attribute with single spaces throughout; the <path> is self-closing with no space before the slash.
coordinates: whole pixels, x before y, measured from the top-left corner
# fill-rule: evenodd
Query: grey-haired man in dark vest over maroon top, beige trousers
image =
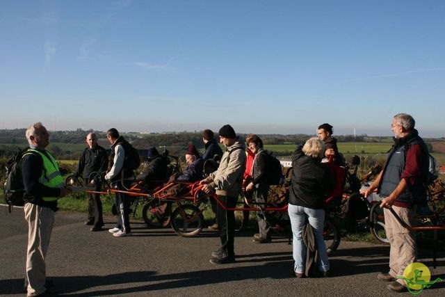
<path id="1" fill-rule="evenodd" d="M 426 204 L 426 184 L 428 182 L 428 147 L 414 129 L 411 115 L 394 115 L 391 131 L 394 133 L 394 146 L 387 161 L 375 181 L 364 191 L 368 197 L 378 189 L 383 198 L 380 207 L 385 216 L 385 232 L 391 246 L 389 250 L 389 272 L 379 273 L 377 278 L 388 284 L 391 291 L 407 291 L 403 279 L 405 268 L 416 262 L 416 234 L 407 230 L 391 214 L 396 214 L 408 225 L 414 224 L 414 207 Z"/>

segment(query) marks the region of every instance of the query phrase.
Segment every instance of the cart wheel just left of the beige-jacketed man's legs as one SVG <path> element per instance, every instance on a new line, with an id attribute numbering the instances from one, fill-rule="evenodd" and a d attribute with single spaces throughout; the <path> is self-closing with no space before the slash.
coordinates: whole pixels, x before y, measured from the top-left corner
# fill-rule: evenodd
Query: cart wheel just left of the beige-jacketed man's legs
<path id="1" fill-rule="evenodd" d="M 202 211 L 191 204 L 179 204 L 173 211 L 171 225 L 175 233 L 183 237 L 193 237 L 201 232 L 204 225 Z"/>

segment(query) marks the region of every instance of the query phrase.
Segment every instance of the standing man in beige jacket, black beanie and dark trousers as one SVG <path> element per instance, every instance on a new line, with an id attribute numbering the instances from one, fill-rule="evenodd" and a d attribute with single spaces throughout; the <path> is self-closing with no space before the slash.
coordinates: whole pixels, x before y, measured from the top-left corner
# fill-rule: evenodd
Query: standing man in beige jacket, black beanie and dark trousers
<path id="1" fill-rule="evenodd" d="M 218 199 L 226 208 L 236 207 L 236 200 L 241 193 L 243 173 L 245 170 L 245 152 L 242 142 L 236 137 L 235 131 L 230 125 L 224 125 L 219 131 L 220 143 L 223 143 L 226 151 L 220 161 L 218 170 L 212 172 L 209 177 L 203 179 L 202 191 L 213 193 L 216 191 Z M 234 236 L 235 214 L 218 204 L 216 209 L 216 221 L 220 234 L 221 246 L 211 253 L 212 264 L 225 264 L 235 262 Z"/>

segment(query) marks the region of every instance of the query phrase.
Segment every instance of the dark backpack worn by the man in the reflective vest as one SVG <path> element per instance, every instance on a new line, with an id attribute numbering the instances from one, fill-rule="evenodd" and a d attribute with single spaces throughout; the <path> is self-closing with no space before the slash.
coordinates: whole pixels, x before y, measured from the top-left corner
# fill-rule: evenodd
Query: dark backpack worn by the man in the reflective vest
<path id="1" fill-rule="evenodd" d="M 3 193 L 6 203 L 9 205 L 9 212 L 13 206 L 22 207 L 24 205 L 23 195 L 25 193 L 22 179 L 22 158 L 26 154 L 28 148 L 19 150 L 6 162 L 6 179 L 3 186 Z"/>

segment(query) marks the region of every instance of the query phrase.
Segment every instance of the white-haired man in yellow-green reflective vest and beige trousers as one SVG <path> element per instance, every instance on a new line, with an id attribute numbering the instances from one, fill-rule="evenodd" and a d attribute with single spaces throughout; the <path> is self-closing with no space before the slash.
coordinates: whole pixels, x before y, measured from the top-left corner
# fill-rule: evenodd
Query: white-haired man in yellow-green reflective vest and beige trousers
<path id="1" fill-rule="evenodd" d="M 24 213 L 28 223 L 25 288 L 27 296 L 50 295 L 47 288 L 52 282 L 46 279 L 44 259 L 53 230 L 54 212 L 58 210 L 57 200 L 70 190 L 65 188 L 56 160 L 45 150 L 49 134 L 41 122 L 26 129 L 26 140 L 30 148 L 22 158 Z"/>

